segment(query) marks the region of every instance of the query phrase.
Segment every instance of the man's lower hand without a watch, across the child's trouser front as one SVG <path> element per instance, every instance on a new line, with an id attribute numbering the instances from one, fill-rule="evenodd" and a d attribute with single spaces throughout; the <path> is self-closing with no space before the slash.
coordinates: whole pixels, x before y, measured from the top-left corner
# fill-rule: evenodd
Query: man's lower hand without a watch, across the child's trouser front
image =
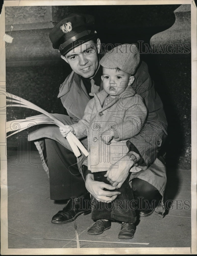
<path id="1" fill-rule="evenodd" d="M 94 196 L 97 201 L 109 203 L 115 200 L 117 195 L 121 194 L 119 191 L 103 190 L 103 188 L 113 190 L 115 187 L 104 182 L 94 180 L 93 174 L 90 173 L 86 176 L 85 186 L 89 193 Z"/>

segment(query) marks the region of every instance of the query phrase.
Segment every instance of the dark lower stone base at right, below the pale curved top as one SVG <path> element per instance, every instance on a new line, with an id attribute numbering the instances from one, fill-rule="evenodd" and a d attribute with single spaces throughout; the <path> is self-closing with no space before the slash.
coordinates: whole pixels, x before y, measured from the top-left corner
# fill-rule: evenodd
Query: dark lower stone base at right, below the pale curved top
<path id="1" fill-rule="evenodd" d="M 191 55 L 147 61 L 155 89 L 159 93 L 168 121 L 166 163 L 191 168 Z"/>

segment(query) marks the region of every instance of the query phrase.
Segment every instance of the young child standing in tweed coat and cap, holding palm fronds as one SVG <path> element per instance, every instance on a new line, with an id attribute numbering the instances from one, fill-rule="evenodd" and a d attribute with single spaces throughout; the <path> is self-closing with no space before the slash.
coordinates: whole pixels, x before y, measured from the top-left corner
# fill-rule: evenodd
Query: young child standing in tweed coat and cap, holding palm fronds
<path id="1" fill-rule="evenodd" d="M 120 45 L 106 53 L 100 60 L 103 90 L 88 102 L 82 120 L 60 129 L 64 137 L 69 132 L 79 139 L 88 137 L 87 165 L 94 180 L 110 184 L 107 170 L 118 168 L 115 163 L 128 153 L 126 141 L 140 132 L 146 119 L 142 98 L 130 86 L 139 62 L 135 45 Z M 91 217 L 96 223 L 88 230 L 89 234 L 101 234 L 110 228 L 111 220 L 115 220 L 122 222 L 118 238 L 133 238 L 136 215 L 128 178 L 120 188 L 114 187 L 115 191 L 120 191 L 114 201 L 104 203 L 93 198 Z"/>

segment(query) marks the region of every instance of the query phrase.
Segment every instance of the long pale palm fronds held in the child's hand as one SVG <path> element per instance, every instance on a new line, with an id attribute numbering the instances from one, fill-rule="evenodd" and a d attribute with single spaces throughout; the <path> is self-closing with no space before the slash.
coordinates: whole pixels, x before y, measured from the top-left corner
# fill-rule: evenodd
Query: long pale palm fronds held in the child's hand
<path id="1" fill-rule="evenodd" d="M 56 119 L 53 115 L 49 114 L 44 109 L 31 103 L 30 101 L 24 100 L 23 98 L 20 98 L 16 95 L 8 93 L 8 92 L 7 92 L 6 97 L 7 97 L 6 101 L 9 103 L 9 106 L 11 105 L 13 107 L 19 106 L 19 107 L 28 108 L 28 109 L 34 109 L 34 110 L 46 115 L 46 117 L 42 117 L 42 118 L 39 118 L 36 116 L 33 116 L 33 117 L 30 116 L 27 119 L 11 120 L 11 121 L 6 122 L 6 133 L 14 131 L 7 137 L 9 137 L 15 133 L 21 132 L 21 131 L 23 131 L 31 126 L 37 125 L 37 124 L 56 124 L 57 126 L 64 128 L 64 124 L 61 121 Z M 76 136 L 73 133 L 69 132 L 68 135 L 66 136 L 66 139 L 67 139 L 68 143 L 70 144 L 70 146 L 73 150 L 73 153 L 75 154 L 76 157 L 81 155 L 79 149 L 85 156 L 89 155 L 86 148 L 82 145 L 82 143 L 76 138 Z"/>

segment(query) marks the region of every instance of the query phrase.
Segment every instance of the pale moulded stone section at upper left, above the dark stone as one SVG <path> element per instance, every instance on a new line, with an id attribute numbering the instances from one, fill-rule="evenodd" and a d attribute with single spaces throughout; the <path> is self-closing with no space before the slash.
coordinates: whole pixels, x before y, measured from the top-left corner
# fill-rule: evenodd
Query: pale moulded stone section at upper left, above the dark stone
<path id="1" fill-rule="evenodd" d="M 59 61 L 58 51 L 52 48 L 49 39 L 54 27 L 52 6 L 5 7 L 5 20 L 6 33 L 9 35 L 11 31 L 14 38 L 6 47 L 6 67 Z"/>

